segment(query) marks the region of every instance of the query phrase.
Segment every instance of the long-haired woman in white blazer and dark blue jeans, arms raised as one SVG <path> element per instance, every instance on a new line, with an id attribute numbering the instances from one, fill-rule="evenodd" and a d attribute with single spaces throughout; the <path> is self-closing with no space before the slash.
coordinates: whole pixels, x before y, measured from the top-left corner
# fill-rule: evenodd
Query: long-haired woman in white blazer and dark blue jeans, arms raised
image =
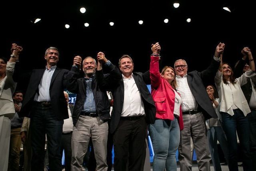
<path id="1" fill-rule="evenodd" d="M 221 56 L 222 58 L 222 56 Z M 250 59 L 249 59 L 250 60 Z M 215 84 L 220 97 L 220 113 L 223 129 L 228 141 L 228 168 L 230 171 L 238 171 L 238 143 L 242 147 L 242 162 L 244 171 L 252 170 L 249 147 L 249 123 L 246 115 L 250 108 L 242 92 L 241 86 L 246 84 L 248 77 L 256 75 L 254 61 L 250 60 L 251 70 L 246 71 L 241 77 L 234 79 L 233 71 L 227 63 L 220 66 L 215 76 Z"/>

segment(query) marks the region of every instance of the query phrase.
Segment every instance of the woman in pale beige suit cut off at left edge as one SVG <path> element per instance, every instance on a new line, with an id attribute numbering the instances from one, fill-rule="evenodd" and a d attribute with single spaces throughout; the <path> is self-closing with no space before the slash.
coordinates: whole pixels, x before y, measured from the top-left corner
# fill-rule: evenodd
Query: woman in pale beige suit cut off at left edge
<path id="1" fill-rule="evenodd" d="M 0 171 L 7 171 L 10 147 L 11 118 L 15 114 L 12 94 L 16 84 L 12 75 L 15 61 L 18 59 L 22 47 L 12 44 L 13 51 L 10 60 L 0 57 Z"/>

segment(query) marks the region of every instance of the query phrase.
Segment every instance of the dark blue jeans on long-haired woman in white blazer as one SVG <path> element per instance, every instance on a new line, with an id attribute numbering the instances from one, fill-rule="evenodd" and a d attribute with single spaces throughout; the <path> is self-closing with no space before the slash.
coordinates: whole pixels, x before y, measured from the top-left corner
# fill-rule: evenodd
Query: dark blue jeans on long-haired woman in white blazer
<path id="1" fill-rule="evenodd" d="M 234 115 L 221 112 L 223 129 L 226 133 L 228 141 L 228 168 L 230 171 L 238 171 L 238 144 L 236 139 L 236 131 L 239 142 L 242 147 L 242 162 L 244 171 L 252 171 L 252 161 L 250 158 L 249 146 L 249 122 L 240 109 L 234 110 Z"/>

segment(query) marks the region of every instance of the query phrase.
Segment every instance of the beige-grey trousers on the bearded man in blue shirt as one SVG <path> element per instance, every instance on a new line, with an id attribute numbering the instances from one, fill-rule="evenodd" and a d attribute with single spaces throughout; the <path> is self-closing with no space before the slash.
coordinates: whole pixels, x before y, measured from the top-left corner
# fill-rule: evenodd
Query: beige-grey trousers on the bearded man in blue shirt
<path id="1" fill-rule="evenodd" d="M 108 122 L 100 123 L 99 117 L 80 115 L 72 133 L 72 159 L 71 170 L 81 171 L 84 155 L 92 137 L 94 154 L 96 159 L 96 171 L 107 171 L 107 140 Z"/>

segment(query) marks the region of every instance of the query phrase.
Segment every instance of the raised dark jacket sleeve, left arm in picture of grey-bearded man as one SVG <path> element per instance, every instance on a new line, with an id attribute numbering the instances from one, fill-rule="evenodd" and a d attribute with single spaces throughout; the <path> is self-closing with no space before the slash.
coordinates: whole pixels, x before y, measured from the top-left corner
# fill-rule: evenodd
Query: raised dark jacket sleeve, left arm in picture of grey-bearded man
<path id="1" fill-rule="evenodd" d="M 73 93 L 78 92 L 77 79 L 78 79 L 78 68 L 72 67 L 71 70 L 68 71 L 66 78 L 65 78 L 65 80 L 66 80 L 65 84 L 66 84 L 68 91 L 73 92 Z"/>

